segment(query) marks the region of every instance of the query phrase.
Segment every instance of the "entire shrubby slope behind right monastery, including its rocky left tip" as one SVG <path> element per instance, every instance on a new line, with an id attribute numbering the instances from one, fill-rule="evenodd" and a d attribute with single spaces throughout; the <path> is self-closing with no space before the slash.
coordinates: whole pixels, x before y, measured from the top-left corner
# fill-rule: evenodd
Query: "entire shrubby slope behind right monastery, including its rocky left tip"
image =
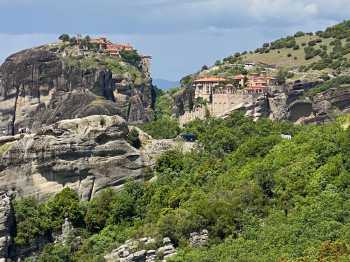
<path id="1" fill-rule="evenodd" d="M 320 71 L 323 74 L 348 72 L 350 69 L 349 24 L 350 21 L 344 21 L 315 33 L 300 31 L 292 36 L 264 43 L 254 51 L 237 52 L 217 60 L 211 67 L 204 65 L 197 73 L 185 77 L 182 84 L 188 86 L 198 75 L 220 76 L 228 79 L 237 74 L 246 75 L 245 63 L 256 63 L 258 66 L 254 70 L 249 70 L 256 71 L 255 73 L 264 71 L 267 65 L 283 70 L 297 69 L 301 75 Z M 321 76 L 322 73 L 316 75 Z"/>

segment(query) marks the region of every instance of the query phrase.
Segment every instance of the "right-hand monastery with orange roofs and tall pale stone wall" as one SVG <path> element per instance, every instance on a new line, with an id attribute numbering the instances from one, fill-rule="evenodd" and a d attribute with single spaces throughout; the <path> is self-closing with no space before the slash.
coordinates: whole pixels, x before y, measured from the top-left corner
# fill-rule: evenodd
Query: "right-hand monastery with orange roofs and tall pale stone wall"
<path id="1" fill-rule="evenodd" d="M 266 74 L 236 75 L 233 79 L 205 76 L 193 82 L 194 108 L 180 116 L 184 125 L 206 116 L 224 117 L 244 105 L 254 104 L 264 98 L 269 88 L 277 86 L 277 80 Z M 252 115 L 258 116 L 254 112 Z"/>

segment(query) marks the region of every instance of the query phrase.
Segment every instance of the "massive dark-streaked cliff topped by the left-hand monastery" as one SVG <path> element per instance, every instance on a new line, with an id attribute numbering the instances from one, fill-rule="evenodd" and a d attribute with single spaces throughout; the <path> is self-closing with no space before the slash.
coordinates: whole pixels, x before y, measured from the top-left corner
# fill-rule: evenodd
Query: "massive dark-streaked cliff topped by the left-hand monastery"
<path id="1" fill-rule="evenodd" d="M 114 73 L 98 54 L 67 57 L 59 50 L 49 45 L 24 50 L 1 65 L 0 134 L 96 114 L 129 122 L 152 118 L 155 91 L 142 69 L 127 67 L 139 70 L 143 79 L 136 81 L 131 73 Z"/>

